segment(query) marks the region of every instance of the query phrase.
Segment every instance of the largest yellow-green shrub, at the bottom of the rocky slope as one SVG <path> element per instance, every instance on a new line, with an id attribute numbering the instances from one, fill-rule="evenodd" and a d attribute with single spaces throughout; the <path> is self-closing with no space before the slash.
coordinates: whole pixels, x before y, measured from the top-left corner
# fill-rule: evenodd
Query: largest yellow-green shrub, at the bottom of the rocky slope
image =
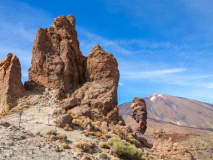
<path id="1" fill-rule="evenodd" d="M 125 140 L 121 140 L 120 138 L 114 137 L 109 139 L 107 142 L 110 146 L 112 146 L 112 152 L 117 154 L 119 157 L 137 159 L 142 155 L 140 149 L 136 148 L 134 145 Z"/>

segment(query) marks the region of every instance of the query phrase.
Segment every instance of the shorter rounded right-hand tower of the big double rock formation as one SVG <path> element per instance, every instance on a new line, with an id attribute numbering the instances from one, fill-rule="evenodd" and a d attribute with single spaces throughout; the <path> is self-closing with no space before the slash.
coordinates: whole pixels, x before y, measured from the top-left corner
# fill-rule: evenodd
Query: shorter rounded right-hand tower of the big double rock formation
<path id="1" fill-rule="evenodd" d="M 113 115 L 111 120 L 118 121 L 118 63 L 111 53 L 105 52 L 99 45 L 92 48 L 87 58 L 86 80 L 71 98 L 63 101 L 62 107 L 79 116 L 104 120 Z"/>

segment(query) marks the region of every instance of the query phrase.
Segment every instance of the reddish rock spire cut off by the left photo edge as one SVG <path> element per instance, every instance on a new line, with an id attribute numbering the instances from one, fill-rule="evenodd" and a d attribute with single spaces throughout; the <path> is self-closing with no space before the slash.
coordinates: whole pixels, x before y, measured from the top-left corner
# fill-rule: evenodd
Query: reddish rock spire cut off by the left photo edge
<path id="1" fill-rule="evenodd" d="M 24 95 L 19 59 L 9 53 L 0 61 L 0 113 L 9 111 L 16 99 Z"/>

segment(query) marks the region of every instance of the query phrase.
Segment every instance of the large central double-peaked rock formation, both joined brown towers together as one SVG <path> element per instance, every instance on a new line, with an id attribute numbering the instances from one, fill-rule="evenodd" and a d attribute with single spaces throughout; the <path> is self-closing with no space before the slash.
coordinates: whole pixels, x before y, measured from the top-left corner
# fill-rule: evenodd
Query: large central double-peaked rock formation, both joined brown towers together
<path id="1" fill-rule="evenodd" d="M 63 101 L 62 111 L 72 109 L 77 115 L 99 120 L 108 116 L 118 122 L 119 76 L 116 59 L 99 45 L 84 57 L 79 49 L 75 18 L 59 16 L 50 28 L 37 32 L 25 87 L 32 90 L 43 86 L 54 89 L 57 99 L 69 97 Z"/>

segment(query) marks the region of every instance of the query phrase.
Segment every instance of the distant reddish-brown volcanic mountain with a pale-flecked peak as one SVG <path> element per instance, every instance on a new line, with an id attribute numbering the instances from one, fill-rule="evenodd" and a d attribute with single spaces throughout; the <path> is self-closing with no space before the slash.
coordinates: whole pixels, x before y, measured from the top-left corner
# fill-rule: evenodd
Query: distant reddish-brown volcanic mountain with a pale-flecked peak
<path id="1" fill-rule="evenodd" d="M 165 94 L 144 98 L 148 119 L 175 125 L 213 129 L 213 105 Z M 131 115 L 131 102 L 119 105 L 120 115 Z"/>

